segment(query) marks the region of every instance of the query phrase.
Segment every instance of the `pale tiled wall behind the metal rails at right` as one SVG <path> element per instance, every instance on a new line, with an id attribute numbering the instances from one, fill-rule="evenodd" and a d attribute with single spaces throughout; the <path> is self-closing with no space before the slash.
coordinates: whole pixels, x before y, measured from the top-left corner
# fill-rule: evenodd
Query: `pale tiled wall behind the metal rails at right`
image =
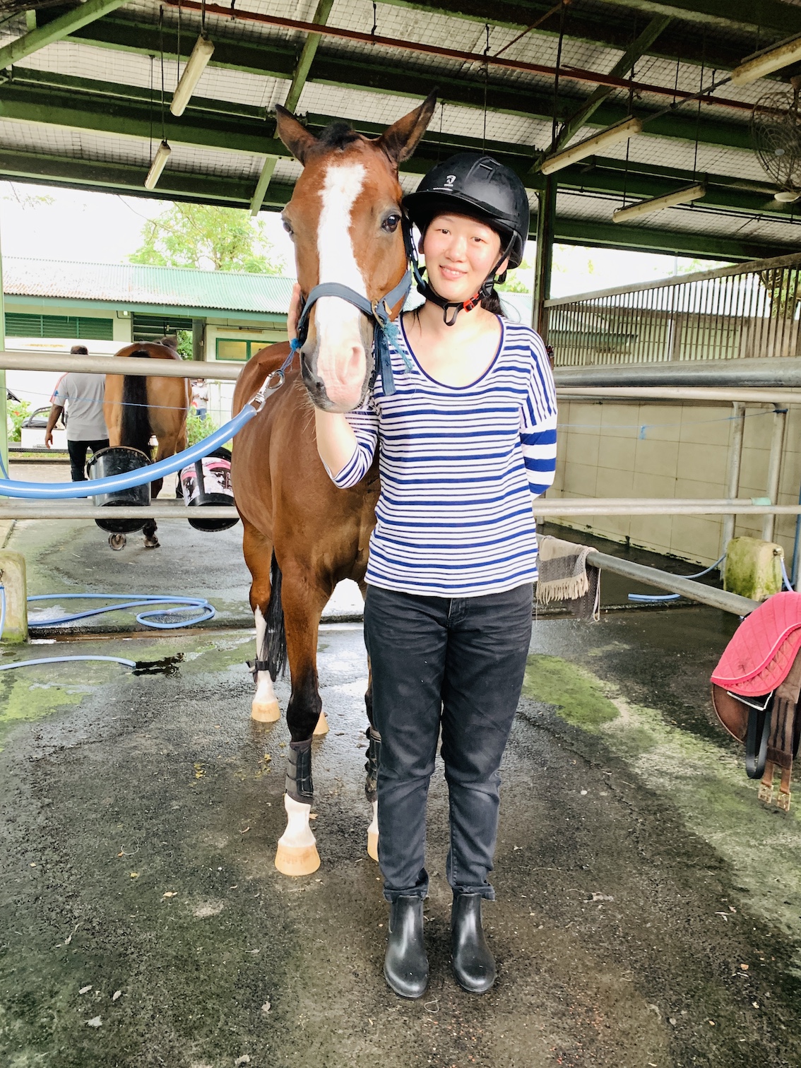
<path id="1" fill-rule="evenodd" d="M 747 407 L 740 498 L 767 492 L 772 409 Z M 569 402 L 560 405 L 556 480 L 548 499 L 577 497 L 723 498 L 734 424 L 731 405 Z M 779 504 L 795 504 L 801 482 L 801 412 L 790 408 Z M 721 554 L 722 517 L 588 516 L 560 520 L 616 541 L 711 564 Z M 774 538 L 792 555 L 795 516 L 776 519 Z M 739 518 L 736 534 L 761 535 L 761 517 Z"/>

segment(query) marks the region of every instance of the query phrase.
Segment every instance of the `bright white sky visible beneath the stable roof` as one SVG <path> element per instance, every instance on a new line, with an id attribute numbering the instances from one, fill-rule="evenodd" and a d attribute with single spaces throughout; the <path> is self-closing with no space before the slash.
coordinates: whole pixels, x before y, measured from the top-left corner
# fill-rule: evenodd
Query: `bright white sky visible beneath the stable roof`
<path id="1" fill-rule="evenodd" d="M 47 202 L 42 200 L 47 198 Z M 142 227 L 167 206 L 166 201 L 116 193 L 0 183 L 0 247 L 4 256 L 62 260 L 83 263 L 125 263 L 141 244 Z M 295 273 L 293 245 L 278 213 L 263 211 L 267 234 L 276 251 Z M 527 246 L 525 261 L 534 263 L 534 246 Z M 567 297 L 609 286 L 668 278 L 690 269 L 698 261 L 622 252 L 613 249 L 554 248 L 552 297 Z M 720 266 L 708 263 L 709 267 Z M 533 276 L 533 268 L 532 268 Z"/>

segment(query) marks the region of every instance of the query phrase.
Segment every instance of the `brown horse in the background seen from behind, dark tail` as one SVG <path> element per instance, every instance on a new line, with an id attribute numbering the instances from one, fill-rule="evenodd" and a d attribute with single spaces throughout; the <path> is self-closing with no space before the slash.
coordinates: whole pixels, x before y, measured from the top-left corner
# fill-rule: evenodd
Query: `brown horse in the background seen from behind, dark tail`
<path id="1" fill-rule="evenodd" d="M 134 342 L 116 356 L 139 359 L 179 360 L 172 337 L 160 342 Z M 103 406 L 110 445 L 129 445 L 151 455 L 151 438 L 158 441 L 156 461 L 186 449 L 186 418 L 189 411 L 189 383 L 186 378 L 142 378 L 139 375 L 106 375 L 106 400 Z M 151 497 L 158 497 L 163 478 L 151 483 Z M 156 521 L 142 528 L 145 549 L 158 549 Z"/>

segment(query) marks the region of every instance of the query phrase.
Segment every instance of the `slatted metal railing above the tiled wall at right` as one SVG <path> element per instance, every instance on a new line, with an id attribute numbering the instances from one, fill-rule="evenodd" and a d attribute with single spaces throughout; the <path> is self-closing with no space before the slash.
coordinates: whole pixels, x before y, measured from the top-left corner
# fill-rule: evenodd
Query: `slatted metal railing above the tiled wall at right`
<path id="1" fill-rule="evenodd" d="M 546 301 L 555 364 L 801 356 L 801 253 Z"/>

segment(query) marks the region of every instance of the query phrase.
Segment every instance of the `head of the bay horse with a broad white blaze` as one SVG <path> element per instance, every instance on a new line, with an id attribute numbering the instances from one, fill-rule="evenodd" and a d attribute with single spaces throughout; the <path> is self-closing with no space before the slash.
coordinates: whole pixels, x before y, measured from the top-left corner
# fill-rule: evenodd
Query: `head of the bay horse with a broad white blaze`
<path id="1" fill-rule="evenodd" d="M 371 303 L 406 272 L 398 164 L 413 153 L 434 113 L 434 94 L 376 139 L 335 122 L 315 137 L 277 107 L 278 135 L 303 164 L 283 213 L 295 242 L 301 293 L 339 282 Z M 391 310 L 394 317 L 403 305 Z M 350 411 L 374 373 L 374 323 L 343 297 L 321 296 L 311 309 L 300 350 L 309 395 L 326 411 Z"/>

